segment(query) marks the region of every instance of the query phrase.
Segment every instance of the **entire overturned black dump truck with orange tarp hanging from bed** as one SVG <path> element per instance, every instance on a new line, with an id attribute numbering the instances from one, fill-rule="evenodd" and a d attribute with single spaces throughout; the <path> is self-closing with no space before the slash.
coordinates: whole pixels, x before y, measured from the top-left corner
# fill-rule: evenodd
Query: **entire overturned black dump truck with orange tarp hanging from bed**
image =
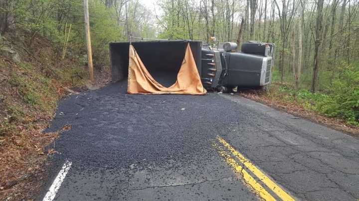
<path id="1" fill-rule="evenodd" d="M 205 94 L 236 86 L 265 87 L 271 81 L 272 44 L 250 41 L 235 52 L 201 41 L 154 40 L 110 43 L 112 81 L 128 79 L 129 93 Z"/>

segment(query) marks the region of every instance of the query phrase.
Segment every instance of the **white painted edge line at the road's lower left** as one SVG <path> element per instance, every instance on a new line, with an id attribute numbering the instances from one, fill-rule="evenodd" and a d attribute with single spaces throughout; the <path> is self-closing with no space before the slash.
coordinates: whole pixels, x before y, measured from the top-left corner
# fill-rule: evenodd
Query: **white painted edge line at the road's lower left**
<path id="1" fill-rule="evenodd" d="M 60 172 L 57 174 L 55 180 L 53 181 L 50 189 L 48 190 L 42 201 L 52 201 L 55 198 L 56 193 L 59 190 L 63 180 L 65 179 L 66 174 L 69 171 L 71 165 L 72 162 L 69 162 L 68 160 L 65 161 Z"/>

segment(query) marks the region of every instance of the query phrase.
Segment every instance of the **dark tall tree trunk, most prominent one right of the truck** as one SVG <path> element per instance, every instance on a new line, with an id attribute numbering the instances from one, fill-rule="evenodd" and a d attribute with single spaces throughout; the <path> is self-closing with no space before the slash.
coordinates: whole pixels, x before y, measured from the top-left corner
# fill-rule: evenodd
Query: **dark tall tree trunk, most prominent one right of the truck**
<path id="1" fill-rule="evenodd" d="M 311 91 L 316 91 L 316 84 L 318 79 L 319 71 L 319 48 L 322 42 L 322 22 L 323 22 L 323 3 L 324 0 L 318 0 L 317 2 L 317 23 L 316 23 L 316 40 L 314 48 L 314 65 L 313 65 L 313 78 Z"/>

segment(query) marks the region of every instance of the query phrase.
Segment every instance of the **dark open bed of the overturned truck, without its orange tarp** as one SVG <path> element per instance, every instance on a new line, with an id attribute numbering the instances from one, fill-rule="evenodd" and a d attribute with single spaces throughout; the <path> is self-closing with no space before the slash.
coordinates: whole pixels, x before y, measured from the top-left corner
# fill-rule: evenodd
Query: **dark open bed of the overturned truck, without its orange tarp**
<path id="1" fill-rule="evenodd" d="M 176 82 L 186 45 L 189 43 L 198 73 L 201 72 L 201 41 L 156 40 L 132 42 L 151 75 L 164 86 Z M 112 82 L 128 77 L 129 42 L 110 43 Z M 200 75 L 200 74 L 199 74 Z"/>

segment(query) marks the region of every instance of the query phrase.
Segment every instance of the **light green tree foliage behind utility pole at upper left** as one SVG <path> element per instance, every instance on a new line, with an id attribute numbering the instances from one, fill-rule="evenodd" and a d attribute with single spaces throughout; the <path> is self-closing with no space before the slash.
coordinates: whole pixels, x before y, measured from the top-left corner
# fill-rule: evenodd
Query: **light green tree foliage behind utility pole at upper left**
<path id="1" fill-rule="evenodd" d="M 86 53 L 82 1 L 14 0 L 11 3 L 13 6 L 6 11 L 13 15 L 17 27 L 27 31 L 26 41 L 29 47 L 34 44 L 35 35 L 42 35 L 51 40 L 60 55 L 66 40 L 65 31 L 68 33 L 71 24 L 66 56 L 74 58 Z M 132 5 L 132 2 L 129 4 Z M 89 14 L 94 66 L 103 68 L 109 65 L 108 44 L 124 39 L 124 27 L 117 24 L 116 9 L 106 7 L 103 1 L 90 0 Z M 135 27 L 135 21 L 130 23 Z M 149 26 L 145 25 L 143 27 L 149 31 Z"/>

